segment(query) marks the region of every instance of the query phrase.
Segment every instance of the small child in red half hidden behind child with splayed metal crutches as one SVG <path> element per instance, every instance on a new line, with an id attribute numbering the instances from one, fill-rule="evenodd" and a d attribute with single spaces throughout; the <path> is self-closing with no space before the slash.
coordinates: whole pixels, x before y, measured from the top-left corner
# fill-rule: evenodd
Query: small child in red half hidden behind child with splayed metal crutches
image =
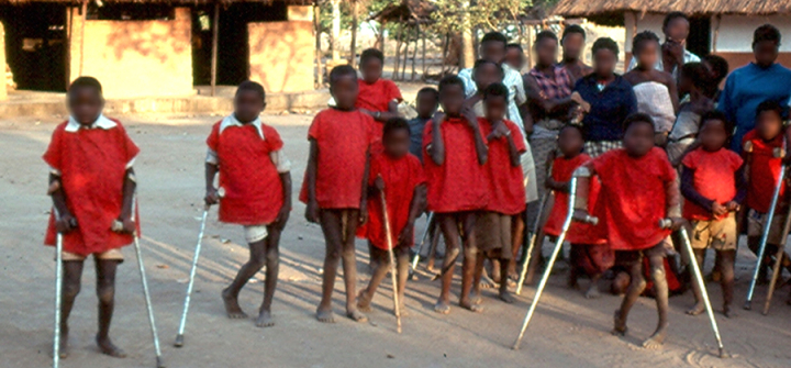
<path id="1" fill-rule="evenodd" d="M 561 157 L 553 160 L 552 175 L 546 179 L 546 187 L 555 192 L 555 204 L 544 225 L 544 233 L 550 236 L 560 235 L 562 223 L 568 213 L 569 181 L 573 171 L 588 163 L 590 156 L 582 153 L 584 140 L 582 130 L 578 125 L 566 125 L 558 133 L 558 148 Z M 588 208 L 595 208 L 599 197 L 599 181 L 591 180 L 588 192 Z M 606 244 L 601 231 L 591 224 L 573 224 L 566 234 L 566 241 L 571 243 L 568 286 L 577 288 L 580 274 L 590 277 L 590 286 L 586 291 L 586 298 L 598 298 L 598 281 L 602 274 L 610 269 L 615 263 L 615 254 Z"/>

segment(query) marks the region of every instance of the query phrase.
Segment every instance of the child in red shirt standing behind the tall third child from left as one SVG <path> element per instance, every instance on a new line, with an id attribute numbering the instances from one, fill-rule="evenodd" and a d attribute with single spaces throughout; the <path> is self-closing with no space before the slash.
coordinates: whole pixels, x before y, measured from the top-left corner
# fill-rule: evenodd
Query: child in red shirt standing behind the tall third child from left
<path id="1" fill-rule="evenodd" d="M 382 52 L 368 48 L 360 54 L 359 70 L 363 78 L 357 80 L 359 94 L 355 105 L 376 120 L 374 133 L 378 138 L 381 138 L 383 124 L 392 118 L 400 116 L 398 105 L 403 101 L 398 86 L 392 80 L 382 78 L 383 67 Z"/>

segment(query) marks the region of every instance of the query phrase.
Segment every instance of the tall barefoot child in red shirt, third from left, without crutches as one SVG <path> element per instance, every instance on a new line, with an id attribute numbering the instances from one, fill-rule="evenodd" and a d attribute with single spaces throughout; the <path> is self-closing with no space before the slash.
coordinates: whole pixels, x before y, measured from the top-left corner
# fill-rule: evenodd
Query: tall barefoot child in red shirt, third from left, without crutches
<path id="1" fill-rule="evenodd" d="M 376 142 L 371 132 L 374 119 L 355 108 L 357 73 L 350 66 L 333 68 L 330 92 L 335 99 L 335 108 L 320 112 L 308 131 L 310 158 L 300 192 L 300 201 L 308 204 L 305 219 L 321 224 L 326 243 L 322 300 L 316 319 L 335 322 L 332 293 L 338 260 L 343 259 L 346 316 L 365 322 L 368 317 L 357 310 L 355 302 L 355 233 L 368 215 L 369 150 Z"/>

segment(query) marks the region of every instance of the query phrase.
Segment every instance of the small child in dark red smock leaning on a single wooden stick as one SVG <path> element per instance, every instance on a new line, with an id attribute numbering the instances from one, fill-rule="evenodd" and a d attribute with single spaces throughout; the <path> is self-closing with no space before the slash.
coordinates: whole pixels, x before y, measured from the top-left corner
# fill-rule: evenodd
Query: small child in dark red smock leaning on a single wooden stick
<path id="1" fill-rule="evenodd" d="M 374 293 L 390 270 L 388 234 L 381 205 L 381 192 L 387 200 L 391 242 L 397 258 L 399 310 L 404 315 L 404 288 L 409 278 L 410 248 L 414 244 L 414 222 L 425 207 L 425 175 L 417 157 L 409 153 L 410 126 L 403 118 L 393 118 L 385 124 L 385 152 L 371 157 L 368 176 L 368 223 L 366 237 L 371 244 L 376 268 L 368 288 L 360 291 L 357 306 L 369 312 Z"/>

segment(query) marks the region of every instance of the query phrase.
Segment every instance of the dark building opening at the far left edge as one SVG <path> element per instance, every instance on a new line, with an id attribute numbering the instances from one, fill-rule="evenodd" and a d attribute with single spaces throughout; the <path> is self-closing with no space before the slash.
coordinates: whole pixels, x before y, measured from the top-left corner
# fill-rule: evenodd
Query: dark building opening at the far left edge
<path id="1" fill-rule="evenodd" d="M 66 9 L 48 2 L 0 9 L 5 24 L 5 59 L 18 89 L 66 90 Z"/>

